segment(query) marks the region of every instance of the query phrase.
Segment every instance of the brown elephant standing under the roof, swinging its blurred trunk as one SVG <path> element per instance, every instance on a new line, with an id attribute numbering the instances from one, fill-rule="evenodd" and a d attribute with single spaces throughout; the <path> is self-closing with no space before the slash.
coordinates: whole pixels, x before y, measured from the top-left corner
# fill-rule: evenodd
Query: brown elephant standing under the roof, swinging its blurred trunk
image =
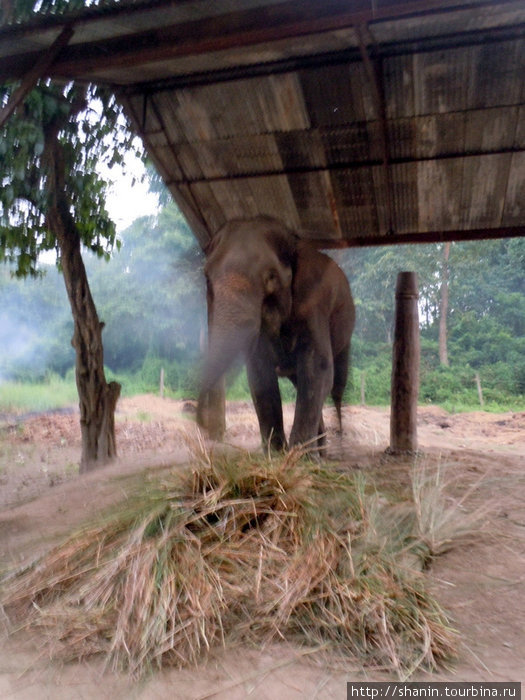
<path id="1" fill-rule="evenodd" d="M 279 220 L 227 223 L 206 251 L 209 314 L 197 422 L 206 397 L 244 356 L 263 446 L 288 447 L 278 377 L 297 389 L 289 445 L 323 449 L 323 403 L 331 392 L 341 428 L 355 310 L 344 272 Z"/>

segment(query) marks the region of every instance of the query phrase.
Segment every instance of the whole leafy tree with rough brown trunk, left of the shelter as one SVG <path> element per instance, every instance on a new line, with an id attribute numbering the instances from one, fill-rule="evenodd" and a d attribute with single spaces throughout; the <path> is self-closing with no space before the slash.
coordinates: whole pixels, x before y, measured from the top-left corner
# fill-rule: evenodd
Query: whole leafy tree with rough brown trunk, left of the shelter
<path id="1" fill-rule="evenodd" d="M 78 4 L 76 6 L 78 7 Z M 12 0 L 8 19 L 35 6 L 61 12 L 62 0 Z M 0 88 L 7 103 L 15 84 Z M 93 113 L 93 105 L 99 113 Z M 102 328 L 82 260 L 86 246 L 107 257 L 115 228 L 105 209 L 97 163 L 122 162 L 131 136 L 114 98 L 95 87 L 41 80 L 4 125 L 0 140 L 0 260 L 16 275 L 38 275 L 38 256 L 55 249 L 74 321 L 76 381 L 82 434 L 81 471 L 116 454 L 114 410 L 120 386 L 104 375 Z"/>

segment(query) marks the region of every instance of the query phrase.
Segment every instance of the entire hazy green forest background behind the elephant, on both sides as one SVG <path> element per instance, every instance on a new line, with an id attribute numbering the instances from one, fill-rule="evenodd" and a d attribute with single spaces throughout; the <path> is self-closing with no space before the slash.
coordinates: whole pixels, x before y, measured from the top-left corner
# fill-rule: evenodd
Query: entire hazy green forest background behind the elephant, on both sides
<path id="1" fill-rule="evenodd" d="M 109 259 L 85 253 L 105 323 L 108 379 L 123 394 L 159 391 L 195 398 L 205 343 L 204 256 L 172 203 L 136 219 Z M 421 403 L 449 411 L 525 405 L 525 238 L 400 245 L 331 253 L 350 281 L 357 309 L 349 403 L 384 405 L 390 372 L 397 273 L 419 280 Z M 60 272 L 17 279 L 0 266 L 0 410 L 47 387 L 42 408 L 75 403 L 73 322 Z M 246 376 L 229 378 L 229 398 L 249 397 Z M 24 393 L 25 388 L 25 393 Z M 283 380 L 285 400 L 293 400 Z M 34 407 L 34 402 L 31 404 Z"/>

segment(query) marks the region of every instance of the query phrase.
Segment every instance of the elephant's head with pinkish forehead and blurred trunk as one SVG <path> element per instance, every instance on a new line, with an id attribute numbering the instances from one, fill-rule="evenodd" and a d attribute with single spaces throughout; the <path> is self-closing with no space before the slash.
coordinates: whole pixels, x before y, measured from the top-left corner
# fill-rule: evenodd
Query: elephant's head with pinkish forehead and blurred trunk
<path id="1" fill-rule="evenodd" d="M 205 267 L 209 348 L 202 394 L 249 352 L 261 330 L 279 335 L 292 308 L 296 240 L 266 217 L 232 221 L 215 236 Z"/>

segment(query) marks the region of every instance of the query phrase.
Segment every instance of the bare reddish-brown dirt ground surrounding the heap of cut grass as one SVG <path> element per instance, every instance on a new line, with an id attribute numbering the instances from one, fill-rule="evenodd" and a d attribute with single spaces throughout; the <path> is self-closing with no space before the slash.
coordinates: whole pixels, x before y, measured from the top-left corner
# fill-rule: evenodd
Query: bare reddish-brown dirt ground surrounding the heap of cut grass
<path id="1" fill-rule="evenodd" d="M 325 409 L 329 457 L 338 469 L 381 470 L 406 479 L 410 460 L 385 456 L 386 409 L 347 407 L 344 436 Z M 288 427 L 292 408 L 285 411 Z M 229 404 L 226 442 L 259 449 L 249 403 Z M 194 406 L 138 396 L 119 402 L 119 460 L 78 475 L 80 430 L 74 411 L 0 416 L 0 572 L 54 543 L 101 508 L 137 488 L 144 472 L 179 468 L 195 440 Z M 453 548 L 432 565 L 430 579 L 460 636 L 450 668 L 413 680 L 525 680 L 525 412 L 449 415 L 419 410 L 420 460 L 439 465 L 451 481 L 451 497 L 469 495 L 458 507 L 485 508 L 483 533 L 474 544 Z M 7 636 L 0 610 L 0 698 L 344 698 L 347 681 L 396 680 L 363 670 L 326 650 L 283 642 L 261 650 L 214 650 L 206 663 L 166 670 L 140 682 L 103 668 L 101 661 L 51 662 L 38 641 Z"/>

